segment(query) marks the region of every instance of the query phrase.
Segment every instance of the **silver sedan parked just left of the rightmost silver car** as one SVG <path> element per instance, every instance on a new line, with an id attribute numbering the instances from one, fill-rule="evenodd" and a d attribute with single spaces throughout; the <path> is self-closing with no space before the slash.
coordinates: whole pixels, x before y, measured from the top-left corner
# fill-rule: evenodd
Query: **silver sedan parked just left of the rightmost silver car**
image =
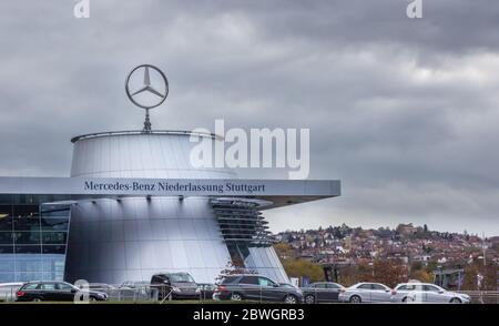
<path id="1" fill-rule="evenodd" d="M 380 283 L 357 283 L 339 291 L 338 300 L 344 303 L 390 302 L 391 289 Z"/>

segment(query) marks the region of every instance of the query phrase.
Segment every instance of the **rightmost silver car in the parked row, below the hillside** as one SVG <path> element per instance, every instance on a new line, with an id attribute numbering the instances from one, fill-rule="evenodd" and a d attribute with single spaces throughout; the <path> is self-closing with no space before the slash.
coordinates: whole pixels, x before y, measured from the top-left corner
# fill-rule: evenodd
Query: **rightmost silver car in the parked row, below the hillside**
<path id="1" fill-rule="evenodd" d="M 391 292 L 395 303 L 456 303 L 469 304 L 471 298 L 467 294 L 445 289 L 431 283 L 401 283 Z"/>

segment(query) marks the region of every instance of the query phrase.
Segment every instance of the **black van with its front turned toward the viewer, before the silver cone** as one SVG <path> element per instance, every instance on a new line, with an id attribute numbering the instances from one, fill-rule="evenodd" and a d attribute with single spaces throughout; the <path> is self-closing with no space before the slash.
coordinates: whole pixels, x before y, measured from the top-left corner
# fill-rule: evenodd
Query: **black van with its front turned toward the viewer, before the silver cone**
<path id="1" fill-rule="evenodd" d="M 189 273 L 161 273 L 151 277 L 151 289 L 157 289 L 157 298 L 198 299 L 201 289 Z"/>

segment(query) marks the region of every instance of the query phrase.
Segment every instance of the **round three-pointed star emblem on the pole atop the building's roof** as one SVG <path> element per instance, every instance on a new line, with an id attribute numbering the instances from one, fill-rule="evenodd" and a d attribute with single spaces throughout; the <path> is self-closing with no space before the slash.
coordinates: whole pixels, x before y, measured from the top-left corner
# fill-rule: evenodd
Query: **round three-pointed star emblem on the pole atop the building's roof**
<path id="1" fill-rule="evenodd" d="M 150 69 L 154 70 L 155 72 L 157 72 L 157 74 L 161 77 L 161 80 L 163 81 L 164 85 L 163 88 L 157 88 L 157 86 L 153 86 L 151 85 L 151 75 L 150 75 Z M 143 84 L 142 88 L 138 89 L 136 91 L 132 92 L 130 90 L 130 80 L 132 78 L 132 75 L 139 71 L 143 70 L 144 71 L 144 78 L 143 78 Z M 151 64 L 141 64 L 139 67 L 135 67 L 126 77 L 126 81 L 125 81 L 125 91 L 126 91 L 126 95 L 129 96 L 130 101 L 132 101 L 133 104 L 142 108 L 142 109 L 153 109 L 156 108 L 157 105 L 160 105 L 161 103 L 164 102 L 164 100 L 166 100 L 166 96 L 169 95 L 169 81 L 166 79 L 166 75 L 156 67 L 151 65 Z M 149 92 L 151 94 L 153 94 L 155 98 L 157 98 L 157 101 L 153 101 L 152 104 L 144 104 L 144 103 L 140 103 L 135 98 L 144 92 Z"/>

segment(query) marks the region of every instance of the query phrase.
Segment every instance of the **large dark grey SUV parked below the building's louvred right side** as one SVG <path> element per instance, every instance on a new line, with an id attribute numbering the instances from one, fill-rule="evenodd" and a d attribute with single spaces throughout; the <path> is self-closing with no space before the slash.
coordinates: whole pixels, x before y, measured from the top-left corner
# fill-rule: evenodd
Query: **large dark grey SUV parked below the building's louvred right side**
<path id="1" fill-rule="evenodd" d="M 303 293 L 299 288 L 281 285 L 261 275 L 231 275 L 222 279 L 213 298 L 298 304 L 303 303 Z"/>

